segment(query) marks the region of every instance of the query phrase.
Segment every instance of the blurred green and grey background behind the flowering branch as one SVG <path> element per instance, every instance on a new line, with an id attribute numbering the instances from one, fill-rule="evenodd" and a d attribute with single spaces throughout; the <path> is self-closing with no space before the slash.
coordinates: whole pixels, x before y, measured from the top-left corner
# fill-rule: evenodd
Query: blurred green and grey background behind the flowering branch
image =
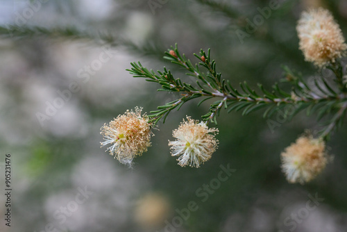
<path id="1" fill-rule="evenodd" d="M 193 53 L 210 48 L 235 86 L 270 88 L 281 65 L 319 75 L 296 35 L 301 12 L 319 6 L 347 35 L 343 0 L 0 1 L 0 184 L 11 154 L 13 189 L 12 224 L 2 216 L 0 231 L 347 231 L 346 125 L 328 142 L 334 162 L 307 185 L 287 183 L 280 169 L 281 151 L 319 129 L 305 113 L 291 122 L 272 115 L 275 127 L 262 111 L 221 113 L 219 149 L 198 169 L 178 166 L 167 145 L 185 115 L 208 111 L 198 100 L 160 122 L 132 169 L 100 148 L 105 122 L 176 99 L 126 71 L 140 61 L 188 80 L 162 58 L 176 42 L 193 63 Z M 1 194 L 1 215 L 5 201 Z"/>

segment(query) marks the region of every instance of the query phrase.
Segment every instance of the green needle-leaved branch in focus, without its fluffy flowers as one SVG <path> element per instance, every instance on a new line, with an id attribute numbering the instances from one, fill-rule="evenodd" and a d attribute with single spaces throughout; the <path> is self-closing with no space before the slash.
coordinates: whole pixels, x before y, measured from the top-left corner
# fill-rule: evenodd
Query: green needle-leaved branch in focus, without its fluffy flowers
<path id="1" fill-rule="evenodd" d="M 141 63 L 131 63 L 133 67 L 127 70 L 134 77 L 142 77 L 146 81 L 160 84 L 161 88 L 158 91 L 180 92 L 182 96 L 163 106 L 158 106 L 158 110 L 151 111 L 149 118 L 153 124 L 162 117 L 165 122 L 171 110 L 176 108 L 179 110 L 184 103 L 196 98 L 203 98 L 198 102 L 198 106 L 208 99 L 218 99 L 210 104 L 208 113 L 201 116 L 206 123 L 217 124 L 217 116 L 221 108 L 227 109 L 228 113 L 242 111 L 242 115 L 263 109 L 263 117 L 270 117 L 278 110 L 285 109 L 284 117 L 289 119 L 306 109 L 307 115 L 315 113 L 318 121 L 326 115 L 332 115 L 329 119 L 325 119 L 324 128 L 319 131 L 325 139 L 329 138 L 330 133 L 343 123 L 347 108 L 347 91 L 340 63 L 334 63 L 328 67 L 335 74 L 335 86 L 331 86 L 323 76 L 314 77 L 313 83 L 309 85 L 301 73 L 283 66 L 285 78 L 280 80 L 280 83 L 275 83 L 270 91 L 258 83 L 259 89 L 256 92 L 246 81 L 239 83 L 239 89 L 237 89 L 229 80 L 222 78 L 221 73 L 217 72 L 215 60 L 210 57 L 210 49 L 207 53 L 203 49 L 199 54 L 194 53 L 199 60 L 194 65 L 184 54 L 180 54 L 177 44 L 165 52 L 165 55 L 165 59 L 186 69 L 187 76 L 193 76 L 196 83 L 189 84 L 180 78 L 175 78 L 166 67 L 163 71 L 154 72 L 152 69 L 143 67 Z M 291 92 L 286 92 L 280 85 L 289 85 Z M 291 107 L 285 108 L 285 106 Z"/>

